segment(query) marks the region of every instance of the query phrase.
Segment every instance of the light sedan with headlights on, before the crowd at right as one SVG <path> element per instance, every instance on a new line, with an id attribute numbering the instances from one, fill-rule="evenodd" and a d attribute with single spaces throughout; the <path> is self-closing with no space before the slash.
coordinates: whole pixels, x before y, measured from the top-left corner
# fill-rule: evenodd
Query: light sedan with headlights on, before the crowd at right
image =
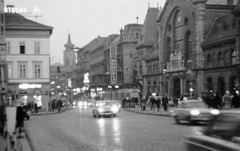
<path id="1" fill-rule="evenodd" d="M 207 108 L 205 103 L 200 100 L 181 101 L 177 108 L 170 110 L 172 117 L 177 124 L 187 121 L 189 124 L 197 122 L 208 122 L 213 116 L 219 114 L 219 110 Z"/>

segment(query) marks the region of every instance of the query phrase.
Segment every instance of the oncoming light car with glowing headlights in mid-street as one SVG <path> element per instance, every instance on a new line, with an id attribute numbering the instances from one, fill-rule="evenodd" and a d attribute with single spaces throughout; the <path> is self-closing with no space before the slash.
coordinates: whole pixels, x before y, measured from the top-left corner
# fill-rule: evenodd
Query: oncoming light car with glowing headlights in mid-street
<path id="1" fill-rule="evenodd" d="M 119 111 L 119 104 L 117 104 L 117 102 L 113 100 L 96 101 L 92 108 L 93 117 L 98 118 L 104 115 L 113 115 L 114 117 L 116 117 Z"/>

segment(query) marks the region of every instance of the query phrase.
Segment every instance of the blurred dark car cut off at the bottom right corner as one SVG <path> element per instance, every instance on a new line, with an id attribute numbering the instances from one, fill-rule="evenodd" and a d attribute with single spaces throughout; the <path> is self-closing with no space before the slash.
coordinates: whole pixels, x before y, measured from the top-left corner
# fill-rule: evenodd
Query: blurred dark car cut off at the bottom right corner
<path id="1" fill-rule="evenodd" d="M 185 136 L 187 151 L 240 151 L 240 109 L 223 110 L 196 134 Z"/>

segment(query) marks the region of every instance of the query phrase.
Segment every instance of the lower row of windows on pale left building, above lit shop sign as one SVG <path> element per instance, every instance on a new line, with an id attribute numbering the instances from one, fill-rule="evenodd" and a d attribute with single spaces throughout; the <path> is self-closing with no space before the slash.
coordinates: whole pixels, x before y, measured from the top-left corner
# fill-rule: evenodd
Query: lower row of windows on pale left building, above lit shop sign
<path id="1" fill-rule="evenodd" d="M 18 78 L 25 79 L 28 73 L 28 66 L 27 63 L 19 63 L 18 64 Z M 13 67 L 12 64 L 8 64 L 8 77 L 13 78 Z M 33 65 L 33 77 L 34 78 L 41 78 L 42 77 L 42 64 L 35 63 Z"/>

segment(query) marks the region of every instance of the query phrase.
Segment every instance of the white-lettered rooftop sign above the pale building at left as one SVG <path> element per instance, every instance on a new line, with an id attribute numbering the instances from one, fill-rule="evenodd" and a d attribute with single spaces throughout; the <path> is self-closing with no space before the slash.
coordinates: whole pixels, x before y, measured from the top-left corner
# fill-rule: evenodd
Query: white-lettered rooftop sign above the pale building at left
<path id="1" fill-rule="evenodd" d="M 35 6 L 33 9 L 21 8 L 21 7 L 5 7 L 5 13 L 17 13 L 17 14 L 31 14 L 34 16 L 41 16 L 42 12 L 40 8 Z"/>

